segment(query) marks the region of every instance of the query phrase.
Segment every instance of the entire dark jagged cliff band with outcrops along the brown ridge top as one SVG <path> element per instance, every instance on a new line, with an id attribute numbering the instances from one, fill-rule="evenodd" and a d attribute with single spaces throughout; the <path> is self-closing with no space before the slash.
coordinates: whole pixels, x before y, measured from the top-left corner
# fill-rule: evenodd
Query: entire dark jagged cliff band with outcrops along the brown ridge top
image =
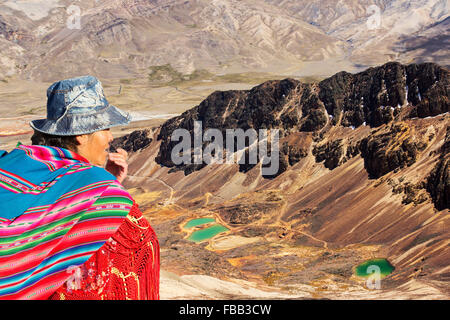
<path id="1" fill-rule="evenodd" d="M 279 129 L 280 139 L 300 132 L 312 132 L 320 137 L 322 129 L 330 124 L 354 127 L 364 123 L 372 127 L 388 124 L 407 103 L 412 105 L 410 117 L 448 112 L 448 87 L 449 72 L 438 65 L 404 66 L 392 62 L 357 74 L 340 72 L 319 83 L 285 79 L 267 81 L 251 90 L 214 92 L 197 107 L 163 124 L 158 135 L 162 142 L 156 162 L 172 170 L 183 170 L 185 174 L 206 165 L 193 162 L 175 165 L 171 160 L 172 149 L 178 144 L 178 141 L 171 141 L 172 133 L 179 128 L 186 129 L 193 141 L 195 121 L 201 121 L 203 132 L 214 128 L 223 137 L 227 129 L 238 128 L 244 131 Z M 388 141 L 389 134 L 366 139 L 361 145 L 366 167 L 373 177 L 415 161 L 418 147 L 409 140 L 403 141 L 389 156 L 383 156 L 381 150 Z M 208 142 L 202 143 L 203 150 L 207 145 Z M 243 148 L 248 146 L 246 142 Z M 225 138 L 223 147 L 227 148 Z M 283 173 L 305 156 L 304 149 L 292 144 L 287 148 L 280 146 L 280 149 L 279 171 L 271 177 Z M 359 146 L 329 145 L 315 150 L 317 161 L 326 158 L 325 165 L 335 168 L 357 154 Z M 193 149 L 190 158 L 193 159 Z M 247 172 L 254 166 L 241 164 L 240 171 Z"/>

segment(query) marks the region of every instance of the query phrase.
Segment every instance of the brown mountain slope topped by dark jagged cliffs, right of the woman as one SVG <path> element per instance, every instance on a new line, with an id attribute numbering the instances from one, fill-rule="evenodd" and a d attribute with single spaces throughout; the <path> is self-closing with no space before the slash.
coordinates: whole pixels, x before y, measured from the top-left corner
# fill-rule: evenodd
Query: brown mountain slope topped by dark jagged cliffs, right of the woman
<path id="1" fill-rule="evenodd" d="M 401 106 L 393 107 L 397 113 L 387 108 L 392 117 L 371 123 L 383 93 L 404 88 L 408 70 L 416 72 L 408 76 L 411 84 L 440 93 L 422 100 L 408 94 Z M 427 87 L 433 75 L 439 80 Z M 383 90 L 373 85 L 382 79 Z M 315 297 L 359 292 L 355 295 L 363 298 L 365 280 L 354 275 L 355 266 L 387 258 L 395 270 L 372 298 L 393 292 L 417 298 L 416 291 L 426 298 L 434 290 L 448 297 L 448 79 L 448 71 L 437 65 L 386 64 L 335 75 L 322 85 L 286 79 L 249 91 L 216 92 L 162 127 L 134 133 L 134 139 L 147 142 L 137 151 L 129 147 L 125 184 L 155 226 L 163 263 L 177 274 L 246 279 L 290 293 L 308 285 Z M 342 98 L 346 90 L 339 95 L 336 88 L 348 83 L 354 88 L 350 97 L 357 99 Z M 305 130 L 305 117 L 316 109 L 310 108 L 311 101 L 328 112 L 320 102 L 324 84 L 334 84 L 332 94 L 325 96 L 336 101 L 329 108 L 336 118 L 327 116 L 324 125 Z M 364 99 L 362 117 L 371 126 L 342 121 L 353 119 L 346 115 L 359 108 L 353 102 L 365 93 L 372 95 Z M 392 94 L 391 102 L 398 103 L 404 93 Z M 205 128 L 280 129 L 282 173 L 264 177 L 260 164 L 209 164 L 186 171 L 159 161 L 170 160 L 164 155 L 172 130 L 193 130 L 189 123 L 196 119 Z M 118 145 L 123 143 L 126 137 Z M 214 217 L 229 231 L 195 244 L 183 225 L 197 217 Z"/>

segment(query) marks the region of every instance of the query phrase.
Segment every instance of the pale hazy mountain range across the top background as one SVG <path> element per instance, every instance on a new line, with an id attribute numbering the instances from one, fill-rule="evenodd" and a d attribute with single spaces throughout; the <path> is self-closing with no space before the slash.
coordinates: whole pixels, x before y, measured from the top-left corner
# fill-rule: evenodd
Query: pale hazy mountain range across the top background
<path id="1" fill-rule="evenodd" d="M 70 5 L 80 8 L 80 29 L 69 28 L 77 14 Z M 7 0 L 0 2 L 0 72 L 51 81 L 88 72 L 146 77 L 165 64 L 187 74 L 325 76 L 391 60 L 448 65 L 431 40 L 447 41 L 448 28 L 438 30 L 448 16 L 445 0 Z"/>

